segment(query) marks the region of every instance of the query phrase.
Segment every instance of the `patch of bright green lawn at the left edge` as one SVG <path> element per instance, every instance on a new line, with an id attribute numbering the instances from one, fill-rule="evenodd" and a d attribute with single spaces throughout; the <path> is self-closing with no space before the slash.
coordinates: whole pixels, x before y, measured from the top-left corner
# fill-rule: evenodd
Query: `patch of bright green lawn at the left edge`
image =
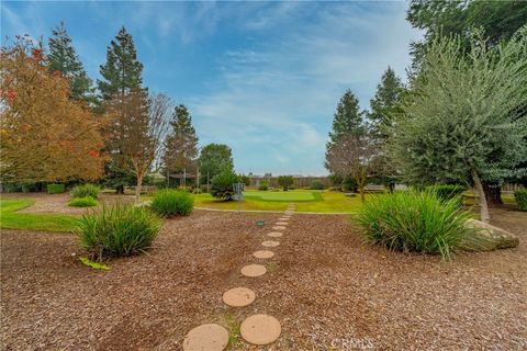
<path id="1" fill-rule="evenodd" d="M 0 227 L 10 229 L 34 229 L 49 231 L 70 231 L 77 216 L 58 214 L 18 213 L 33 205 L 33 200 L 0 200 Z"/>

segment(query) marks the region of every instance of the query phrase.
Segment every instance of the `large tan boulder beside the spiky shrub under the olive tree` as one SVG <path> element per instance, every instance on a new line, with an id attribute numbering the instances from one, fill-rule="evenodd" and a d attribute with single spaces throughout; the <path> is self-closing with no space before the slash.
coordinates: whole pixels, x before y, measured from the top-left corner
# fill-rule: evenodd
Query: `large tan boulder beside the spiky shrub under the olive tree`
<path id="1" fill-rule="evenodd" d="M 474 229 L 473 237 L 461 245 L 466 250 L 493 251 L 515 248 L 519 244 L 519 238 L 514 234 L 478 219 L 467 220 L 466 226 Z"/>

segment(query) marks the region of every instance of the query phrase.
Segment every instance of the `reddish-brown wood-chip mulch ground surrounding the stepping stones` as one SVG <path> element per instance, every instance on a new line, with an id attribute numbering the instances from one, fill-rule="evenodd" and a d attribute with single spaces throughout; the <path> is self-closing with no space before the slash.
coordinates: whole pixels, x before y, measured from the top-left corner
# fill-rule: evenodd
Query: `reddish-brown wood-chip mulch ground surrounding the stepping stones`
<path id="1" fill-rule="evenodd" d="M 0 344 L 180 350 L 200 324 L 233 329 L 265 313 L 282 336 L 264 350 L 525 350 L 527 214 L 494 211 L 520 246 L 449 263 L 363 245 L 347 216 L 295 214 L 256 279 L 239 270 L 258 262 L 251 253 L 279 214 L 195 211 L 167 220 L 148 254 L 111 260 L 108 272 L 78 263 L 71 235 L 2 230 Z M 253 288 L 255 303 L 224 305 L 235 286 Z M 257 350 L 240 340 L 232 349 Z"/>

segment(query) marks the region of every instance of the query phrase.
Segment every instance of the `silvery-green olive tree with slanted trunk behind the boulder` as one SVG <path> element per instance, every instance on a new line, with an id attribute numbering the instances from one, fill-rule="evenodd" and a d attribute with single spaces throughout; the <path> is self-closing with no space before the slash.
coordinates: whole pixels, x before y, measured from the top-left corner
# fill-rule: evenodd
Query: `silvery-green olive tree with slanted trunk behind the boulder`
<path id="1" fill-rule="evenodd" d="M 489 222 L 482 181 L 527 159 L 527 26 L 507 44 L 475 35 L 462 47 L 457 37 L 429 45 L 388 151 L 411 183 L 474 185 Z"/>

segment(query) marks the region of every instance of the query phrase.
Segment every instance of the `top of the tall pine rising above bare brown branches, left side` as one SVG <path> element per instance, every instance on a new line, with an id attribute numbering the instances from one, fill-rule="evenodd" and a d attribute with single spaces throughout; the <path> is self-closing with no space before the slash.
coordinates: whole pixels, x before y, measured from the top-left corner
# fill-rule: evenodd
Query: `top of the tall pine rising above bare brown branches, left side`
<path id="1" fill-rule="evenodd" d="M 143 82 L 143 64 L 137 60 L 134 39 L 123 26 L 106 49 L 106 63 L 100 67 L 98 80 L 101 98 L 111 100 L 115 94 L 139 89 Z"/>

